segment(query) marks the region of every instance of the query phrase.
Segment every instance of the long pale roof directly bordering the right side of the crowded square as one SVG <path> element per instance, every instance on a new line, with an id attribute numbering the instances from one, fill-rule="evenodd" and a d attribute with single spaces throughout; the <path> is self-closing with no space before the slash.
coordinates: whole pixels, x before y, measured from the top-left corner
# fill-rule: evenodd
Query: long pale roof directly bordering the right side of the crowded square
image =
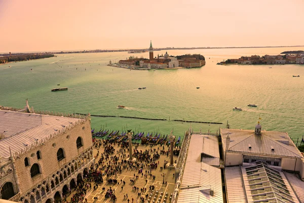
<path id="1" fill-rule="evenodd" d="M 221 171 L 219 168 L 201 162 L 202 154 L 210 158 L 218 156 L 218 142 L 214 136 L 192 134 L 187 153 L 185 169 L 178 193 L 178 203 L 222 202 Z M 217 149 L 217 150 L 216 150 Z"/>

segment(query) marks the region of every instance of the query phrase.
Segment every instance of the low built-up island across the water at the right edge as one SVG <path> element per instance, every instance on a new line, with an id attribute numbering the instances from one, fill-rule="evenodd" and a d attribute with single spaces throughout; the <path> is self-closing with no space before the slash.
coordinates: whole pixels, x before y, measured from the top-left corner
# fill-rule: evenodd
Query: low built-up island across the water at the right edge
<path id="1" fill-rule="evenodd" d="M 258 55 L 242 56 L 238 59 L 227 59 L 217 64 L 304 64 L 304 54 L 264 55 L 262 57 Z"/>

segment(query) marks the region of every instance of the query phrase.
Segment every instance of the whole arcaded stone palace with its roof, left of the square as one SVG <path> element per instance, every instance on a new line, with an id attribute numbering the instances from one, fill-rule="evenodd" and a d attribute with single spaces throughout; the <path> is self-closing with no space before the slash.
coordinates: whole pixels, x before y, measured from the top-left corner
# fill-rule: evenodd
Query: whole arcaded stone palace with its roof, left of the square
<path id="1" fill-rule="evenodd" d="M 0 199 L 62 200 L 95 166 L 90 120 L 0 107 Z"/>

